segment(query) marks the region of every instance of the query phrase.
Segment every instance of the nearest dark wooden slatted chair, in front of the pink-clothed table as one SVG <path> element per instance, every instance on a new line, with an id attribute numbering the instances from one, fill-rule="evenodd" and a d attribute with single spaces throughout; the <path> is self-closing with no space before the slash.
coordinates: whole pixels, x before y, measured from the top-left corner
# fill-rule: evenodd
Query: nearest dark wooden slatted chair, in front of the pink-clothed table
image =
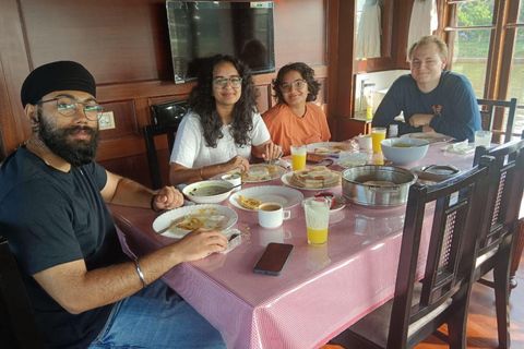
<path id="1" fill-rule="evenodd" d="M 492 158 L 485 157 L 480 166 L 448 181 L 410 186 L 394 299 L 344 330 L 333 344 L 359 349 L 413 348 L 448 323 L 450 347 L 465 348 L 479 228 L 476 217 L 492 168 Z M 427 203 L 434 203 L 434 212 L 426 268 L 417 281 Z"/>

